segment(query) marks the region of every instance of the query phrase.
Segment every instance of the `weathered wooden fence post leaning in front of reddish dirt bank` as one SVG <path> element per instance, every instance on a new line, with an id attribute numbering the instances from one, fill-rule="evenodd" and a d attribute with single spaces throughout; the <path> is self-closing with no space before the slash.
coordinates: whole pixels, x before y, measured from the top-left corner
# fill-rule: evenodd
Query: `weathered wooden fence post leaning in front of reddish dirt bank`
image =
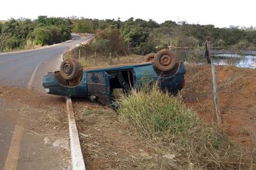
<path id="1" fill-rule="evenodd" d="M 206 47 L 205 57 L 207 58 L 207 63 L 211 63 L 211 69 L 212 69 L 213 100 L 214 100 L 214 106 L 215 106 L 216 121 L 217 121 L 217 124 L 220 125 L 221 112 L 220 112 L 219 102 L 218 102 L 216 70 L 215 70 L 215 65 L 212 63 L 212 59 L 209 54 L 209 42 L 206 42 L 205 47 Z"/>

